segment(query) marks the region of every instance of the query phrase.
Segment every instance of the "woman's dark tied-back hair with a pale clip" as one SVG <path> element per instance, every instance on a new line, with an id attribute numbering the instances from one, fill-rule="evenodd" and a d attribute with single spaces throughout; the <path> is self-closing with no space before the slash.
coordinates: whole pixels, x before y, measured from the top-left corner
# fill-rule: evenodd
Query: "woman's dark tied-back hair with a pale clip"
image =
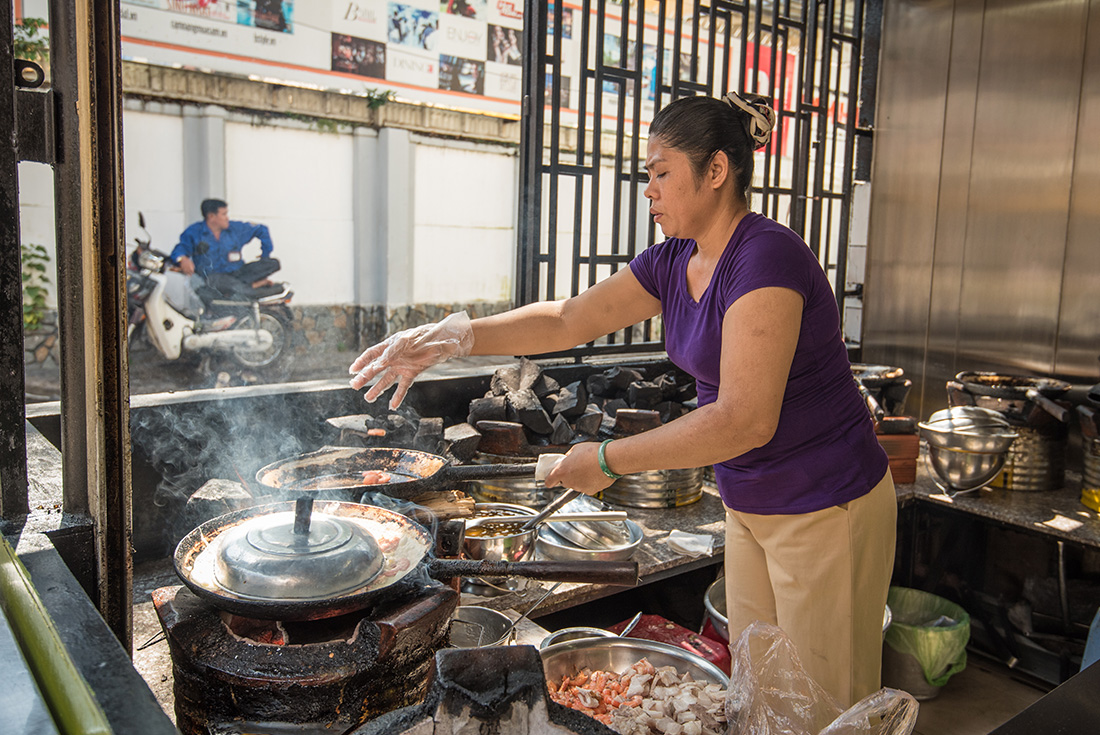
<path id="1" fill-rule="evenodd" d="M 706 173 L 714 154 L 724 151 L 737 191 L 748 201 L 752 152 L 768 144 L 774 119 L 771 101 L 759 95 L 683 97 L 653 116 L 649 136 L 686 155 L 696 178 Z"/>

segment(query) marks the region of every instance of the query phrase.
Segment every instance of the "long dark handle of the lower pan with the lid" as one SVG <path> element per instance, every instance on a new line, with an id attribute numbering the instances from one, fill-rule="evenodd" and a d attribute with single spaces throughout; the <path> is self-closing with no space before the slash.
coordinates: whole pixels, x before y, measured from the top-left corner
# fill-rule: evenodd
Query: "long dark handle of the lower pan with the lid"
<path id="1" fill-rule="evenodd" d="M 436 579 L 454 577 L 526 577 L 552 582 L 581 582 L 637 586 L 637 561 L 480 561 L 432 559 L 428 573 Z"/>

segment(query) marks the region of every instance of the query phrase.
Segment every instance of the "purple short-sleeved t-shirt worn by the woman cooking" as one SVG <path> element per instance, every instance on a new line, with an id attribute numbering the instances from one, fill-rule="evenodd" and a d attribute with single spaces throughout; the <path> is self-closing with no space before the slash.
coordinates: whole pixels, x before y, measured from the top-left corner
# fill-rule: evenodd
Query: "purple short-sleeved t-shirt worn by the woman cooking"
<path id="1" fill-rule="evenodd" d="M 688 292 L 694 240 L 642 251 L 630 271 L 661 300 L 664 344 L 693 375 L 701 406 L 718 394 L 722 322 L 745 294 L 770 286 L 802 295 L 802 328 L 776 436 L 714 465 L 722 500 L 763 515 L 811 513 L 866 494 L 887 473 L 886 451 L 851 376 L 836 297 L 817 259 L 792 230 L 762 215 L 741 219 L 696 303 Z"/>

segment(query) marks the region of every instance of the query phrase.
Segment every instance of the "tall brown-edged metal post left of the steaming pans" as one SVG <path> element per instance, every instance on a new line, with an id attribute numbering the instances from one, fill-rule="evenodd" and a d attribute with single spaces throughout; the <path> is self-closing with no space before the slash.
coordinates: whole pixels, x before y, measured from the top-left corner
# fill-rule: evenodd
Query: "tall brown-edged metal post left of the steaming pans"
<path id="1" fill-rule="evenodd" d="M 54 176 L 67 512 L 95 522 L 96 604 L 128 651 L 133 638 L 130 414 L 124 359 L 119 4 L 51 0 L 57 99 Z"/>

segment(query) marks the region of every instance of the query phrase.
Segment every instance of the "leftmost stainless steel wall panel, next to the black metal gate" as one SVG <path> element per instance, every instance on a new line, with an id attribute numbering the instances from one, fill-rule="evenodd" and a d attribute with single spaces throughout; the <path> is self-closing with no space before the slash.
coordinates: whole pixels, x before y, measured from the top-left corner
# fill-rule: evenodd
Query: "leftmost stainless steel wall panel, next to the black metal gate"
<path id="1" fill-rule="evenodd" d="M 917 375 L 927 333 L 953 8 L 947 0 L 888 2 L 882 19 L 864 354 Z"/>

